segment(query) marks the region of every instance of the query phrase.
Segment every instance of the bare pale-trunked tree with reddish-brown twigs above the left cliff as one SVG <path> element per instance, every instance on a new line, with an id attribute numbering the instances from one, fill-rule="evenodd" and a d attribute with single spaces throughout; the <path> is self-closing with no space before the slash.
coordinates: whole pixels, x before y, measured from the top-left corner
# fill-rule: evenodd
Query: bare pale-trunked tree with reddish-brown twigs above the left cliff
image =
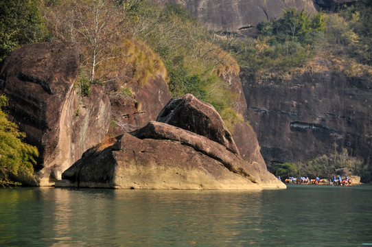
<path id="1" fill-rule="evenodd" d="M 82 64 L 93 82 L 97 66 L 114 59 L 115 44 L 126 34 L 124 10 L 115 0 L 45 3 L 44 16 L 54 39 L 80 44 Z"/>

